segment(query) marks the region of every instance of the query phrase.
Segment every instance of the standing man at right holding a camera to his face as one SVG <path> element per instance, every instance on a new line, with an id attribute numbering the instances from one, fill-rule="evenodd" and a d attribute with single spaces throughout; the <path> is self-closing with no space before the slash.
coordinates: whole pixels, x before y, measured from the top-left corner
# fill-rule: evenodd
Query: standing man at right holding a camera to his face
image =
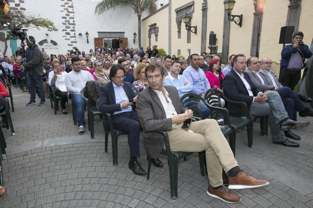
<path id="1" fill-rule="evenodd" d="M 280 83 L 294 89 L 301 78 L 301 69 L 305 67 L 305 59 L 312 56 L 309 47 L 303 43 L 303 33 L 292 35 L 292 44 L 283 47 L 280 63 Z"/>

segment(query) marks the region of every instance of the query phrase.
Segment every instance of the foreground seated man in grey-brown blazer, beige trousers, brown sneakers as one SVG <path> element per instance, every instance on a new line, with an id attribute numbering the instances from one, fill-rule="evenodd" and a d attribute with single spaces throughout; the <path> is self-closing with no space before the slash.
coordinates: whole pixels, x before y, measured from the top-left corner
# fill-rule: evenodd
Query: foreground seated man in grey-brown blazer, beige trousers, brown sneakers
<path id="1" fill-rule="evenodd" d="M 228 203 L 241 199 L 228 189 L 255 189 L 269 186 L 269 182 L 250 176 L 240 170 L 227 140 L 214 119 L 192 122 L 192 110 L 182 107 L 177 89 L 163 86 L 164 70 L 160 65 L 148 65 L 145 70 L 149 87 L 138 95 L 136 108 L 143 128 L 147 154 L 158 158 L 164 148 L 163 137 L 155 130 L 167 130 L 172 151 L 200 152 L 205 150 L 209 186 L 207 194 Z M 222 169 L 228 175 L 228 188 L 223 185 Z"/>

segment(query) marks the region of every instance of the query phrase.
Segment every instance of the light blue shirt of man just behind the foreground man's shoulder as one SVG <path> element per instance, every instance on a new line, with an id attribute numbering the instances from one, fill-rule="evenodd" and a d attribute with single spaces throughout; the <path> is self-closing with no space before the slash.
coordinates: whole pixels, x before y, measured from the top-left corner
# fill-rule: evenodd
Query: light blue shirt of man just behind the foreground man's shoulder
<path id="1" fill-rule="evenodd" d="M 193 89 L 189 82 L 188 85 L 185 86 L 186 82 L 188 82 L 188 80 L 183 75 L 178 75 L 177 79 L 175 79 L 171 74 L 169 74 L 165 77 L 163 86 L 172 85 L 176 87 L 179 97 L 182 97 L 185 93 L 191 92 Z"/>

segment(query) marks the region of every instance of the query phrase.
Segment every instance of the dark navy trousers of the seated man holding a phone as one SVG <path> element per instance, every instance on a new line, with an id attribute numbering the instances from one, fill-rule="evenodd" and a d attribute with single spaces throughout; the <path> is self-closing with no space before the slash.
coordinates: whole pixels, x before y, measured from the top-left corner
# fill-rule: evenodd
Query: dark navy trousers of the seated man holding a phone
<path id="1" fill-rule="evenodd" d="M 140 123 L 136 111 L 123 112 L 112 116 L 113 128 L 128 133 L 131 157 L 140 156 Z"/>

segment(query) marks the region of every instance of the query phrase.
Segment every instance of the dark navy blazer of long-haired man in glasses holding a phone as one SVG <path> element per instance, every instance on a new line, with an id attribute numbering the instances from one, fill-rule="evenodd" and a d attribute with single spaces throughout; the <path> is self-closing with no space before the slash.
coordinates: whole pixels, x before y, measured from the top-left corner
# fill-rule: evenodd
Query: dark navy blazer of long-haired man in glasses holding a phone
<path id="1" fill-rule="evenodd" d="M 123 88 L 129 100 L 134 99 L 134 97 L 136 97 L 136 94 L 131 88 L 131 83 L 123 82 Z M 116 104 L 112 81 L 100 87 L 98 108 L 100 112 L 110 113 L 111 116 L 113 115 L 115 111 L 122 110 L 121 104 Z M 105 133 L 107 134 L 109 131 L 109 121 L 106 116 L 103 117 L 103 126 L 104 126 Z"/>

